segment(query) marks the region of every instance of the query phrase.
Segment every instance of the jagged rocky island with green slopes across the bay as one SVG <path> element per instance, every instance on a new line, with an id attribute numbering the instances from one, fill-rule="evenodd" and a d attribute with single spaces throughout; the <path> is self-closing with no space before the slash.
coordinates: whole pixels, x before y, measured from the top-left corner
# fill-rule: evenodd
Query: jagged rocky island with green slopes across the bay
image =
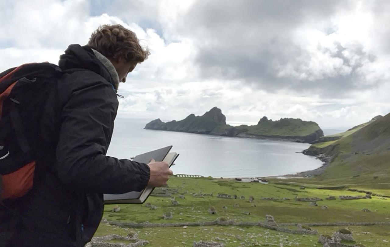
<path id="1" fill-rule="evenodd" d="M 180 121 L 173 120 L 164 123 L 160 119 L 156 119 L 146 124 L 145 129 L 308 143 L 324 136 L 317 123 L 292 118 L 272 121 L 268 120 L 267 117 L 262 117 L 257 125 L 230 126 L 226 124 L 226 117 L 217 107 L 212 108 L 202 116 L 190 114 Z"/>

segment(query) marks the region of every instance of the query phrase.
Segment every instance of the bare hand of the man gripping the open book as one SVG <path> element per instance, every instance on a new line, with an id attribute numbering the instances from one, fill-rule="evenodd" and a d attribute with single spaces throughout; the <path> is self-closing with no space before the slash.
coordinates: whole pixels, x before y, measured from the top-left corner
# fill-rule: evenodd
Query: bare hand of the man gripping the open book
<path id="1" fill-rule="evenodd" d="M 169 175 L 173 172 L 165 162 L 155 162 L 153 159 L 149 162 L 150 178 L 148 186 L 161 187 L 167 184 Z"/>

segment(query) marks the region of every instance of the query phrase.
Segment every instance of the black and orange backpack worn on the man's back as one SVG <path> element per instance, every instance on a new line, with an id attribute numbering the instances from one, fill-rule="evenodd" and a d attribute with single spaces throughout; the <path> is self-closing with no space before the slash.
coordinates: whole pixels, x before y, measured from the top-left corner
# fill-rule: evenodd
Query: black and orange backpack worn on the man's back
<path id="1" fill-rule="evenodd" d="M 61 74 L 50 63 L 23 64 L 0 73 L 0 202 L 22 197 L 33 186 L 39 119 Z"/>

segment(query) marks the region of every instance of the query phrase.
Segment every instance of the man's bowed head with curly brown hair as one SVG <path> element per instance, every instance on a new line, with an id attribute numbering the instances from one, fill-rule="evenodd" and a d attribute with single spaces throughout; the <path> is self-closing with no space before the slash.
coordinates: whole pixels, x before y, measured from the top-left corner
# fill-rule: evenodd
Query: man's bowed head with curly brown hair
<path id="1" fill-rule="evenodd" d="M 147 48 L 140 46 L 135 33 L 122 25 L 100 26 L 92 33 L 88 46 L 112 62 L 121 82 L 125 82 L 127 74 L 150 55 Z"/>

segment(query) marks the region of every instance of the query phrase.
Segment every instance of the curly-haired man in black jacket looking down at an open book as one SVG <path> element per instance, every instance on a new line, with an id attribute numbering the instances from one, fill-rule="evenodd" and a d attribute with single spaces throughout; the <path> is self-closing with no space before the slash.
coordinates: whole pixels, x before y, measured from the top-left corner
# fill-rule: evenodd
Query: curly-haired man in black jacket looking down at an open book
<path id="1" fill-rule="evenodd" d="M 87 46 L 72 44 L 60 56 L 66 73 L 47 95 L 40 126 L 47 169 L 27 195 L 0 206 L 0 246 L 83 246 L 99 226 L 103 193 L 166 184 L 167 163 L 106 156 L 119 82 L 148 55 L 133 32 L 103 25 Z"/>

